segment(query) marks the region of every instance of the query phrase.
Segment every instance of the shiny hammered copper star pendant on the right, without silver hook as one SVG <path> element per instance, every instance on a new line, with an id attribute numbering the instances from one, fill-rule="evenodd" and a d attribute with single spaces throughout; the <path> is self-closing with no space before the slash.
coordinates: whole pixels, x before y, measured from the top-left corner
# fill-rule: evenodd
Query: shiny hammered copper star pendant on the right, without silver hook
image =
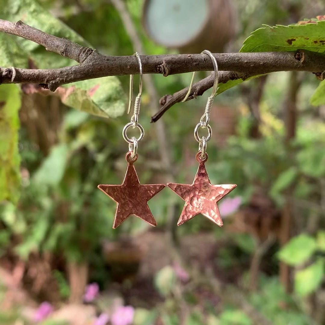
<path id="1" fill-rule="evenodd" d="M 182 225 L 197 214 L 203 214 L 221 227 L 223 222 L 217 202 L 236 188 L 237 185 L 212 185 L 204 165 L 204 162 L 208 159 L 208 154 L 206 153 L 204 159 L 201 159 L 200 156 L 201 151 L 196 154 L 196 160 L 200 165 L 194 177 L 193 184 L 167 183 L 167 186 L 185 201 L 177 226 Z"/>

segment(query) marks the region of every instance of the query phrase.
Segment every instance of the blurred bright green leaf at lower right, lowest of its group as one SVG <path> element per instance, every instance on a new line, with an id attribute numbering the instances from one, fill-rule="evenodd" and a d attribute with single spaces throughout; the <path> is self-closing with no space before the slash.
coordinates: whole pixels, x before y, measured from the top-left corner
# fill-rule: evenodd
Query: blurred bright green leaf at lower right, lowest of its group
<path id="1" fill-rule="evenodd" d="M 324 277 L 324 260 L 318 259 L 314 264 L 297 271 L 294 276 L 294 290 L 300 296 L 314 292 Z"/>

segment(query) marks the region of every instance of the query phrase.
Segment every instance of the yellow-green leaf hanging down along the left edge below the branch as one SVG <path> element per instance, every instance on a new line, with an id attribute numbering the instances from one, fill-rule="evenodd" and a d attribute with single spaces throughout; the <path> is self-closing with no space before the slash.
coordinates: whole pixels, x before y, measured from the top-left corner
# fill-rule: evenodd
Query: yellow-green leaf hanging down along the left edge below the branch
<path id="1" fill-rule="evenodd" d="M 18 130 L 20 91 L 16 85 L 0 86 L 0 202 L 19 199 L 20 156 Z"/>

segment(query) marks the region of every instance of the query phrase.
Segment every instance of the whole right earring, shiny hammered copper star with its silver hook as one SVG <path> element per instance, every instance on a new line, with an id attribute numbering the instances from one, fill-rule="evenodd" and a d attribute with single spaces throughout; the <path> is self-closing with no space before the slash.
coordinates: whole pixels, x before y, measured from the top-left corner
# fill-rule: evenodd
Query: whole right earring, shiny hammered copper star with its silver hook
<path id="1" fill-rule="evenodd" d="M 170 187 L 178 196 L 180 196 L 185 201 L 185 205 L 177 222 L 177 226 L 182 225 L 184 222 L 193 218 L 197 214 L 203 214 L 205 217 L 221 227 L 223 225 L 223 222 L 221 220 L 217 202 L 220 201 L 229 192 L 231 192 L 234 188 L 236 188 L 237 185 L 212 185 L 204 165 L 208 159 L 208 154 L 206 153 L 206 144 L 212 136 L 212 129 L 209 124 L 209 118 L 213 99 L 218 87 L 218 65 L 216 59 L 210 51 L 204 50 L 201 52 L 201 54 L 208 54 L 212 59 L 214 66 L 214 85 L 212 88 L 212 94 L 206 103 L 204 114 L 194 129 L 195 140 L 199 142 L 199 151 L 195 156 L 196 160 L 199 162 L 199 168 L 194 177 L 193 184 L 167 183 L 167 186 Z M 188 92 L 182 102 L 186 101 L 192 90 L 195 75 L 196 72 L 193 73 Z M 208 130 L 207 137 L 199 137 L 198 133 L 201 128 L 206 128 Z"/>

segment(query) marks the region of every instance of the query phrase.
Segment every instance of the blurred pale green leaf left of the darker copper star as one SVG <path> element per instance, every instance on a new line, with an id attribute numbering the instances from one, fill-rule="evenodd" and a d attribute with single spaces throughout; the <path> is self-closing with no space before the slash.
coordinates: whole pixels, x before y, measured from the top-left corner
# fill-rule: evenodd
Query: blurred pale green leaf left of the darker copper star
<path id="1" fill-rule="evenodd" d="M 66 144 L 63 143 L 53 147 L 34 174 L 33 180 L 39 184 L 58 185 L 64 175 L 67 160 L 68 147 Z"/>

